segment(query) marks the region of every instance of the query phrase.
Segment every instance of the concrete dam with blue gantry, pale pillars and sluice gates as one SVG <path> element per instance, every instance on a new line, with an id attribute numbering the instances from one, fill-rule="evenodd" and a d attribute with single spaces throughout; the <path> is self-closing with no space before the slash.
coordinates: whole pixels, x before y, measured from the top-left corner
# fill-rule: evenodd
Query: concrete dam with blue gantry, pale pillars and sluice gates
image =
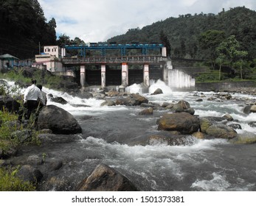
<path id="1" fill-rule="evenodd" d="M 66 46 L 66 51 L 79 51 L 79 56 L 62 58 L 66 71 L 72 68 L 80 72 L 80 85 L 120 86 L 143 84 L 150 86 L 150 80 L 161 79 L 173 90 L 194 90 L 195 79 L 184 71 L 173 68 L 172 60 L 166 57 L 166 48 L 162 44 L 125 44 L 125 45 L 94 45 Z M 138 51 L 136 55 L 132 51 Z M 66 54 L 63 51 L 63 54 Z M 89 56 L 89 51 L 97 51 L 100 55 Z M 110 54 L 108 52 L 110 51 Z M 113 52 L 120 53 L 113 56 Z"/>

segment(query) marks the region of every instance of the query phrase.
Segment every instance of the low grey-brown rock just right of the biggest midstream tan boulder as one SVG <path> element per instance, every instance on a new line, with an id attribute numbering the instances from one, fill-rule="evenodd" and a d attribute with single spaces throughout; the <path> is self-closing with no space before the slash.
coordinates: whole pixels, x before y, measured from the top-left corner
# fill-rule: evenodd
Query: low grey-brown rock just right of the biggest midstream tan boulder
<path id="1" fill-rule="evenodd" d="M 224 124 L 215 124 L 206 130 L 207 135 L 212 136 L 213 138 L 223 138 L 223 139 L 232 139 L 237 136 L 235 129 L 228 127 Z"/>

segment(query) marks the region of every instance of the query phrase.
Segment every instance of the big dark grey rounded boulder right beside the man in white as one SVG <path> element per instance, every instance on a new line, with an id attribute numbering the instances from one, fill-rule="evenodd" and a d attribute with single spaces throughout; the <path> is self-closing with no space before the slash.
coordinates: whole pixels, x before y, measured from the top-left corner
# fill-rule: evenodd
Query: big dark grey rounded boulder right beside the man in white
<path id="1" fill-rule="evenodd" d="M 44 107 L 38 115 L 39 129 L 51 129 L 55 134 L 76 134 L 82 132 L 76 119 L 55 105 Z"/>

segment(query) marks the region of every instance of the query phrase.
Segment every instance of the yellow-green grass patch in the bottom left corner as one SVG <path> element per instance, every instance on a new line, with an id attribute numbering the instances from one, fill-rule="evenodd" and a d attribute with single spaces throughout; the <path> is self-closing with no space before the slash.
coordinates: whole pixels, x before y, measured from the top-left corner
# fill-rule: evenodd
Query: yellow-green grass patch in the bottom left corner
<path id="1" fill-rule="evenodd" d="M 0 168 L 0 191 L 35 191 L 35 185 L 15 177 L 16 171 Z"/>

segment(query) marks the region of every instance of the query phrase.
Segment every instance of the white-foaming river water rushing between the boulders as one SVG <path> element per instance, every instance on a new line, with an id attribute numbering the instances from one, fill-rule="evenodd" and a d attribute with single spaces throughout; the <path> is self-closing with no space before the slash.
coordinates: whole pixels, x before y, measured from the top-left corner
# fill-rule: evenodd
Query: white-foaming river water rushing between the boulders
<path id="1" fill-rule="evenodd" d="M 151 95 L 156 88 L 164 93 Z M 80 99 L 56 90 L 43 90 L 66 99 L 68 104 L 50 99 L 47 104 L 67 110 L 83 129 L 74 141 L 64 138 L 61 143 L 27 147 L 23 151 L 27 156 L 46 154 L 46 158 L 63 160 L 62 168 L 55 174 L 55 180 L 63 182 L 61 190 L 74 190 L 99 163 L 105 163 L 128 177 L 140 191 L 256 191 L 256 144 L 199 140 L 191 136 L 184 146 L 169 146 L 165 142 L 148 145 L 145 141 L 149 135 L 159 132 L 156 121 L 167 110 L 154 110 L 153 116 L 140 116 L 143 108 L 139 106 L 101 107 L 104 100 Z M 140 93 L 141 88 L 132 85 L 128 91 Z M 255 102 L 256 96 L 232 93 L 230 100 L 207 100 L 214 94 L 204 92 L 201 97 L 196 91 L 174 92 L 164 82 L 157 81 L 151 82 L 149 93 L 142 95 L 158 104 L 185 100 L 200 117 L 221 117 L 229 113 L 241 124 L 242 129 L 236 130 L 238 133 L 256 134 L 256 127 L 249 126 L 249 122 L 256 121 L 256 113 L 243 113 L 246 102 Z M 199 98 L 203 101 L 196 102 Z"/>

